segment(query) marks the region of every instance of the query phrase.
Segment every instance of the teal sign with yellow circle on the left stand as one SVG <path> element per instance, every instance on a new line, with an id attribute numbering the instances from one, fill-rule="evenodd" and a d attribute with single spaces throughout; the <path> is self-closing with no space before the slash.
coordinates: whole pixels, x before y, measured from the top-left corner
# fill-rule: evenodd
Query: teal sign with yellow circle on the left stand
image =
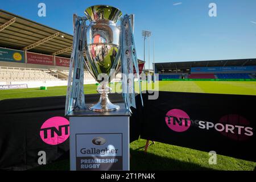
<path id="1" fill-rule="evenodd" d="M 0 61 L 24 63 L 24 52 L 14 49 L 0 48 Z"/>

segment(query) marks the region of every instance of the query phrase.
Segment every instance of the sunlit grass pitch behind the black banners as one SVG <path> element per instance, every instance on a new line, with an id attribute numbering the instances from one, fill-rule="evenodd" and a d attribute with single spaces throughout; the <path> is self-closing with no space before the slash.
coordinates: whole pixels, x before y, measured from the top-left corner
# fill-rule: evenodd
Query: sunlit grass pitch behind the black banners
<path id="1" fill-rule="evenodd" d="M 220 94 L 243 94 L 256 96 L 255 81 L 159 81 L 155 84 L 157 89 L 159 85 L 160 91 L 170 92 L 193 92 L 193 93 L 220 93 Z M 142 82 L 142 90 L 147 87 L 146 82 Z M 112 88 L 121 91 L 121 83 L 117 83 Z M 97 93 L 97 86 L 85 85 L 85 94 Z M 135 85 L 138 91 L 138 84 Z M 151 89 L 151 88 L 149 88 Z M 50 96 L 65 96 L 67 86 L 48 87 L 47 90 L 39 88 L 31 89 L 13 89 L 0 90 L 0 100 L 7 98 L 28 98 L 28 97 L 50 97 Z"/>

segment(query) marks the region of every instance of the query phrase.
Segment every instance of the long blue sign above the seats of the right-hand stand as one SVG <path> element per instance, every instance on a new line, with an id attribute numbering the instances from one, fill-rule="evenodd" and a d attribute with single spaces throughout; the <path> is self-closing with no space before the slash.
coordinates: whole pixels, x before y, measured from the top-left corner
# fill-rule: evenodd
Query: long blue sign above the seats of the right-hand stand
<path id="1" fill-rule="evenodd" d="M 256 66 L 246 67 L 195 67 L 191 68 L 191 73 L 195 72 L 256 72 Z"/>

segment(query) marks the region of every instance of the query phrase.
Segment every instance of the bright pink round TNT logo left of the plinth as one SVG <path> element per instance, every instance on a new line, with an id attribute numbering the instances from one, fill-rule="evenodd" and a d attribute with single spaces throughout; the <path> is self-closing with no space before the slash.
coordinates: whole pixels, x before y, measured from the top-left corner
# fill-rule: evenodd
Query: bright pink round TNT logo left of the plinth
<path id="1" fill-rule="evenodd" d="M 63 117 L 47 119 L 40 129 L 42 140 L 51 145 L 65 142 L 69 137 L 69 121 Z"/>

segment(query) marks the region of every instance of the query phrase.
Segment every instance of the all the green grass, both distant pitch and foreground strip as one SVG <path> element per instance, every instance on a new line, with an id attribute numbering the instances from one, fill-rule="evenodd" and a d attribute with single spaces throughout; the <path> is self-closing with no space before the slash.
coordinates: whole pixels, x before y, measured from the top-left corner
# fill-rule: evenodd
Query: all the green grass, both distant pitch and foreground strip
<path id="1" fill-rule="evenodd" d="M 119 86 L 117 86 L 119 87 Z M 138 90 L 138 85 L 136 85 Z M 85 85 L 85 93 L 96 93 L 96 85 Z M 157 86 L 155 86 L 157 88 Z M 146 89 L 146 82 L 143 82 Z M 47 90 L 16 89 L 0 90 L 0 100 L 6 98 L 64 96 L 67 86 L 49 87 Z M 120 89 L 117 89 L 120 91 Z M 254 81 L 159 81 L 159 90 L 194 93 L 222 93 L 256 95 Z M 254 170 L 256 163 L 217 155 L 217 164 L 209 165 L 208 152 L 172 146 L 156 142 L 143 152 L 146 140 L 139 139 L 130 144 L 130 168 L 132 170 Z M 69 170 L 69 161 L 51 163 L 36 170 Z"/>

